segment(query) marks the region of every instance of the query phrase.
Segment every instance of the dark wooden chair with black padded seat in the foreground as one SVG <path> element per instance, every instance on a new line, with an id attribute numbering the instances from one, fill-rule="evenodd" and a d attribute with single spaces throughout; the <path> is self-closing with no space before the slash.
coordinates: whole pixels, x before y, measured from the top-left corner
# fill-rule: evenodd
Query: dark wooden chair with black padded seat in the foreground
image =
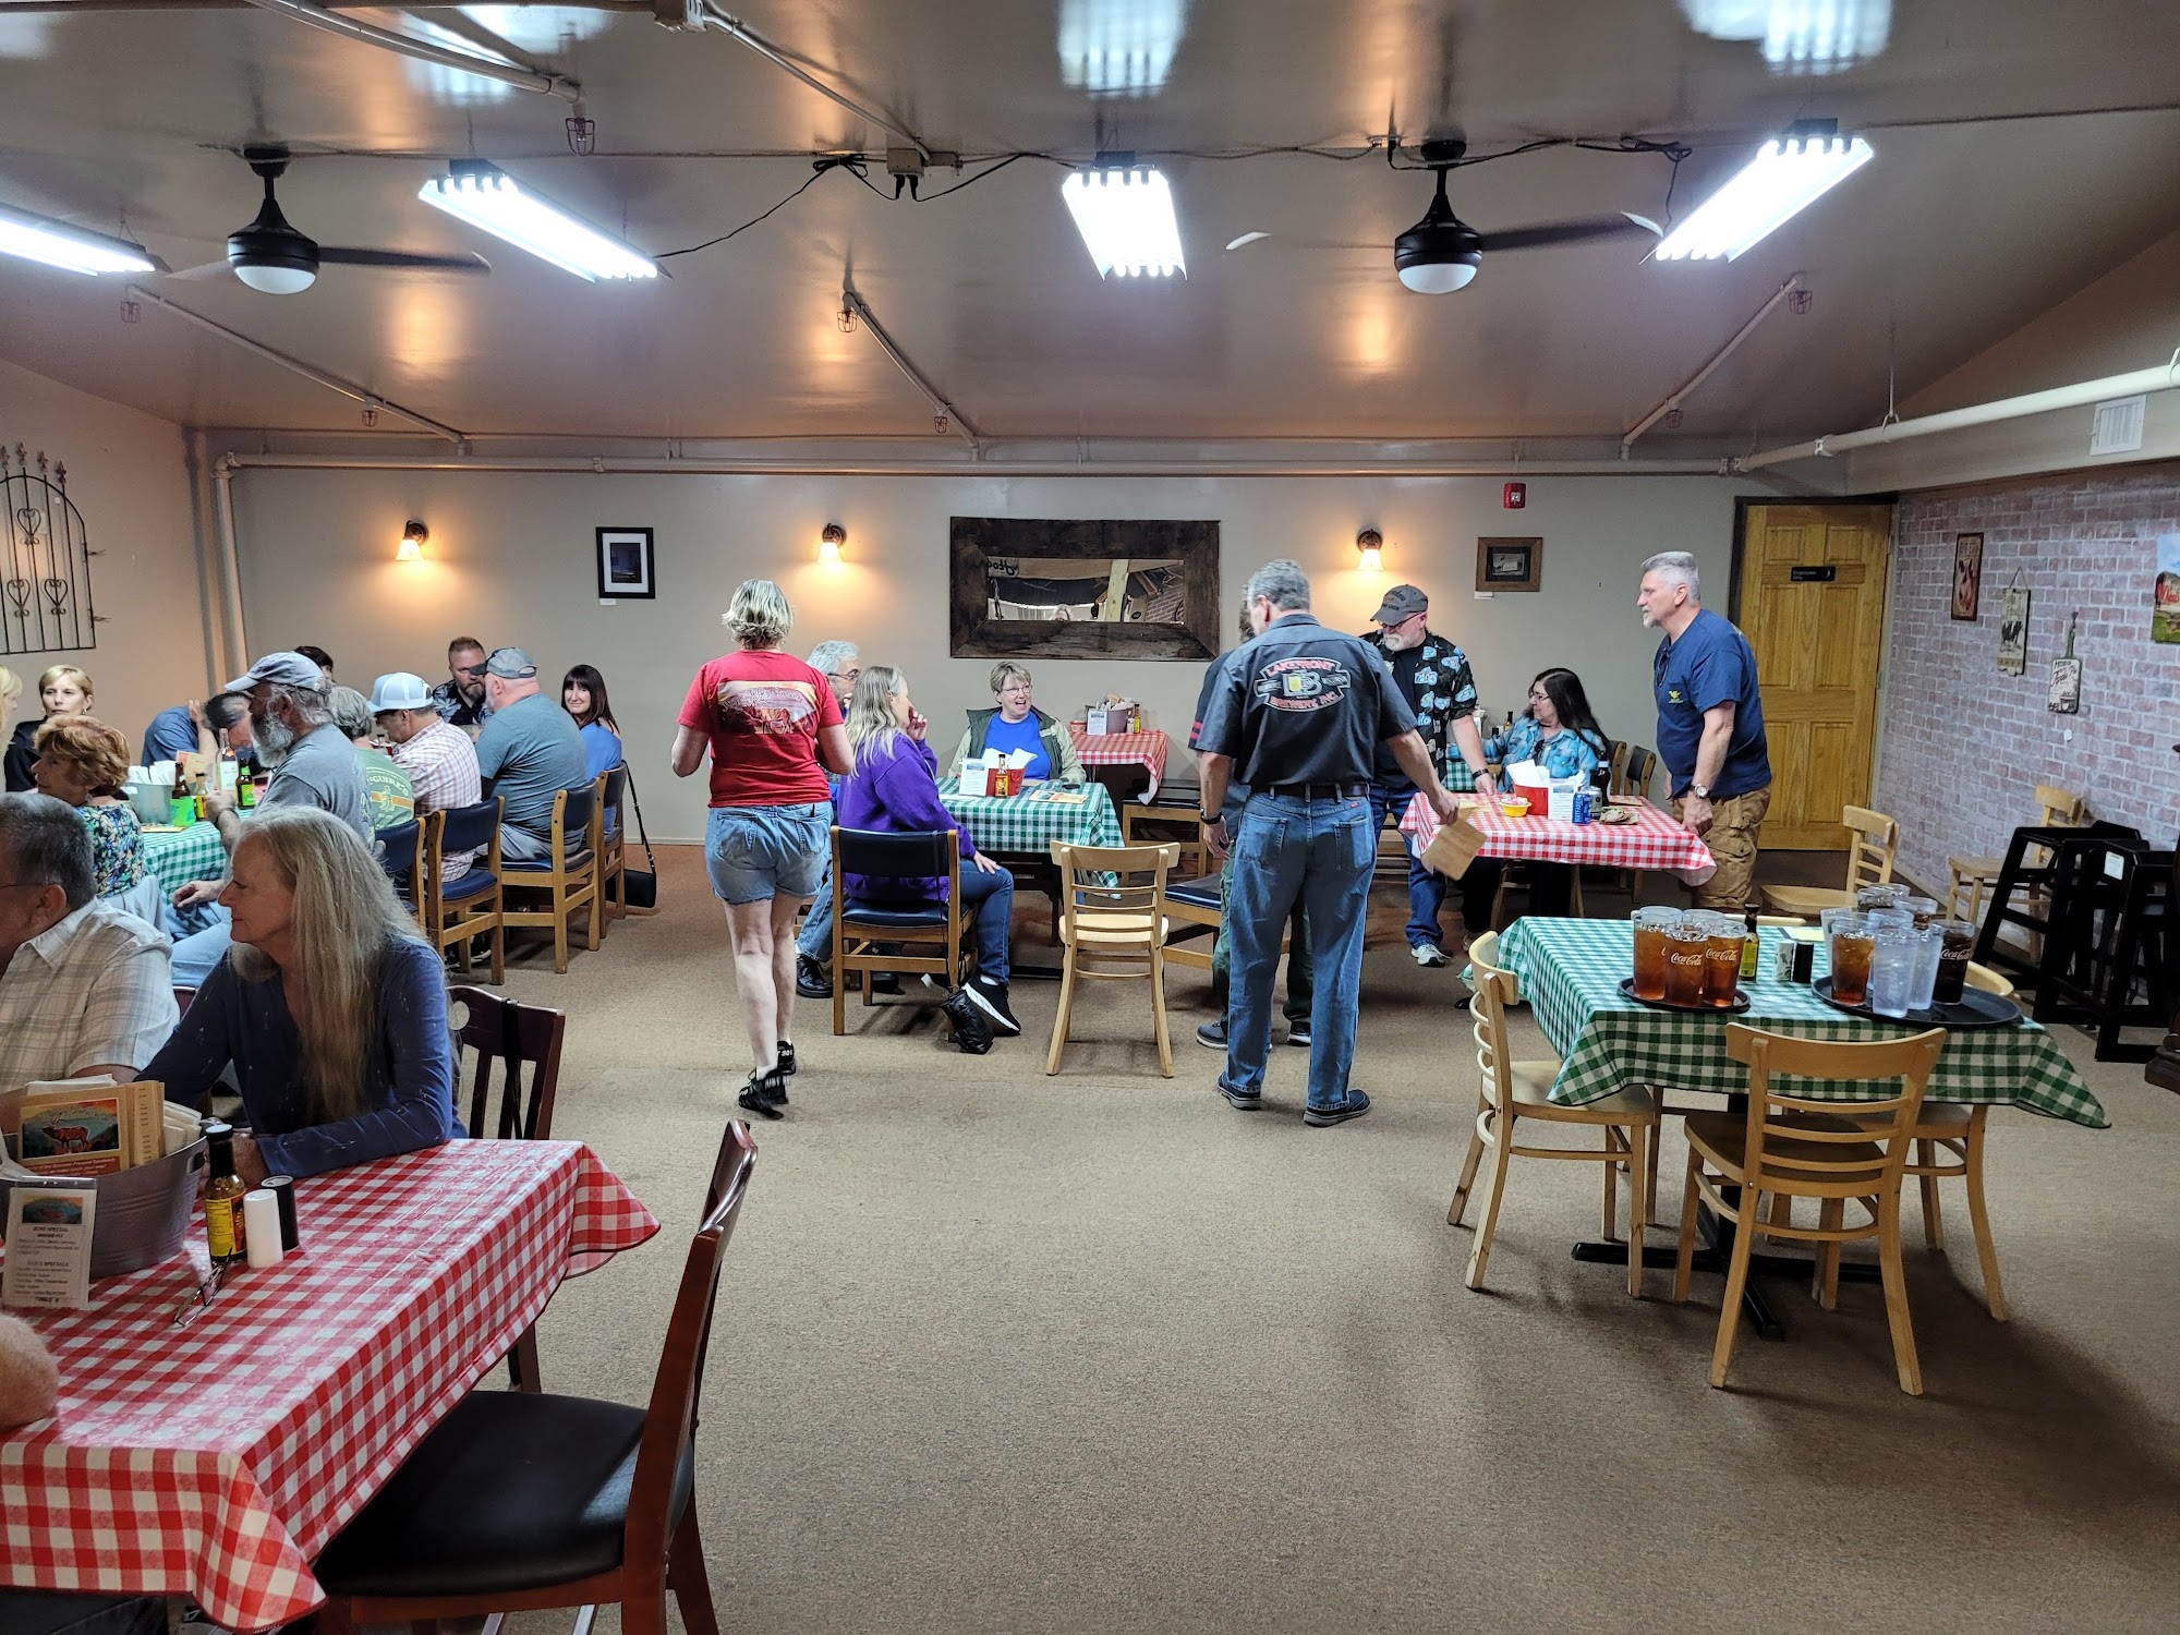
<path id="1" fill-rule="evenodd" d="M 628 1635 L 717 1635 L 698 1533 L 695 1428 L 719 1262 L 756 1144 L 726 1125 L 645 1408 L 471 1391 L 314 1563 L 323 1635 L 619 1602 Z"/>

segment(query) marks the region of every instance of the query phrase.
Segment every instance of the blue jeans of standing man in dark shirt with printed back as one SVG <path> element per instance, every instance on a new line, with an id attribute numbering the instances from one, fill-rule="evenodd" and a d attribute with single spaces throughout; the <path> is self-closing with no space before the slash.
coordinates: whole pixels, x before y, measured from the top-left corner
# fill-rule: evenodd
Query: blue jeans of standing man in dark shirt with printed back
<path id="1" fill-rule="evenodd" d="M 1227 931 L 1234 972 L 1227 990 L 1225 1090 L 1262 1094 L 1271 1053 L 1271 988 L 1280 970 L 1280 931 L 1295 903 L 1310 916 L 1315 990 L 1310 994 L 1310 1105 L 1347 1105 L 1356 1055 L 1356 992 L 1362 985 L 1362 913 L 1378 828 L 1367 800 L 1299 800 L 1256 794 L 1234 837 L 1234 889 Z"/>

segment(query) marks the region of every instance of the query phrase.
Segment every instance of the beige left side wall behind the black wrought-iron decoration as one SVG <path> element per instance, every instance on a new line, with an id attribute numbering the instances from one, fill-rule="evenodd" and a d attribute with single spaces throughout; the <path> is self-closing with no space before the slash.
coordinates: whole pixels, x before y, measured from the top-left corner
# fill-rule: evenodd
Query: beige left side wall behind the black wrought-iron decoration
<path id="1" fill-rule="evenodd" d="M 131 748 L 153 713 L 203 698 L 209 658 L 198 534 L 181 427 L 0 362 L 0 438 L 68 464 L 92 558 L 98 645 L 74 654 L 9 654 L 37 715 L 37 671 L 72 663 L 96 685 L 98 717 Z M 225 680 L 225 678 L 222 678 Z"/>

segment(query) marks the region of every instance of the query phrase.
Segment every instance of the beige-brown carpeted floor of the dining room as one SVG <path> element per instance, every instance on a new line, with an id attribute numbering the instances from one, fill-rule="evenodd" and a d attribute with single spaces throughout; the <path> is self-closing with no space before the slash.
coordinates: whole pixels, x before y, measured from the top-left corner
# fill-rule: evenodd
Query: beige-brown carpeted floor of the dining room
<path id="1" fill-rule="evenodd" d="M 554 1134 L 667 1227 L 541 1325 L 547 1389 L 630 1402 L 748 1070 L 698 855 L 661 863 L 663 916 L 567 977 L 525 944 L 508 981 L 569 1012 Z M 1031 957 L 1042 907 L 1018 916 Z M 1461 1286 L 1445 1206 L 1476 1068 L 1452 972 L 1408 959 L 1402 918 L 1380 887 L 1376 1107 L 1339 1129 L 1299 1121 L 1301 1051 L 1273 1053 L 1273 1110 L 1214 1094 L 1197 972 L 1173 981 L 1173 1079 L 1136 985 L 1077 1003 L 1051 1079 L 1053 983 L 1016 985 L 1027 1033 L 985 1057 L 924 1007 L 850 1005 L 835 1040 L 802 1003 L 704 1389 L 724 1628 L 2180 1622 L 2180 1099 L 2062 1033 L 2112 1129 L 1993 1121 L 2012 1321 L 1979 1304 L 1955 1190 L 1953 1260 L 1910 1249 L 1923 1400 L 1894 1386 L 1875 1284 L 1829 1315 L 1772 1286 L 1788 1339 L 1744 1339 L 1711 1391 L 1716 1280 L 1676 1308 L 1670 1273 L 1631 1301 L 1622 1269 L 1570 1260 L 1591 1166 L 1517 1164 L 1491 1288 Z"/>

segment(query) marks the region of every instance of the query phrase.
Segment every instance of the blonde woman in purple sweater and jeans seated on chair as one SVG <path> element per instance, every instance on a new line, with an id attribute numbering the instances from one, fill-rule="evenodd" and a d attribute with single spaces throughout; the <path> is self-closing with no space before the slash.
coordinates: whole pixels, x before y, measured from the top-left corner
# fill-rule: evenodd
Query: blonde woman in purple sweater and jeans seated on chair
<path id="1" fill-rule="evenodd" d="M 892 665 L 868 665 L 848 700 L 848 746 L 855 770 L 839 789 L 839 826 L 883 833 L 961 826 L 940 804 L 937 756 L 924 743 L 931 724 L 909 702 L 909 678 Z M 865 903 L 944 903 L 942 879 L 848 874 L 841 894 Z M 1007 1009 L 1007 935 L 1014 922 L 1014 876 L 961 835 L 961 911 L 977 924 L 977 974 L 961 992 L 1003 1033 L 1022 1025 Z"/>

